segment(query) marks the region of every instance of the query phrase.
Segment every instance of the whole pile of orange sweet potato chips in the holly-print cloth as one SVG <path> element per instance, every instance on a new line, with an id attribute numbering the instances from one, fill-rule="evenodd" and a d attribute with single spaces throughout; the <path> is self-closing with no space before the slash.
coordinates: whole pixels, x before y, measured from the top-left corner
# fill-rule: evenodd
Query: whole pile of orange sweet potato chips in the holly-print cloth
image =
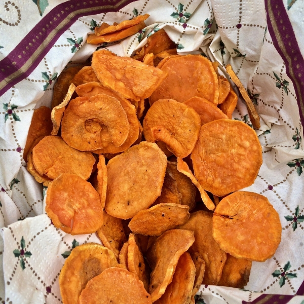
<path id="1" fill-rule="evenodd" d="M 88 42 L 121 39 L 147 17 L 103 23 Z M 47 214 L 64 232 L 97 233 L 103 243 L 66 259 L 64 304 L 194 303 L 201 284 L 243 288 L 251 262 L 275 253 L 278 213 L 240 191 L 258 174 L 261 146 L 232 120 L 238 97 L 217 69 L 201 55 L 178 55 L 159 30 L 133 58 L 104 49 L 91 65 L 67 68 L 52 111 L 34 111 L 24 160 L 48 185 Z"/>

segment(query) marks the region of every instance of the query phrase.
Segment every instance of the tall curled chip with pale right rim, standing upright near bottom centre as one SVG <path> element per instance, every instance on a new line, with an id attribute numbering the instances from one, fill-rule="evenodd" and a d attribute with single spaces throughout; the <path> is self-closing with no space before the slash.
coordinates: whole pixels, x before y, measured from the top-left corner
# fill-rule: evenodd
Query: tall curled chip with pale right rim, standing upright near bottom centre
<path id="1" fill-rule="evenodd" d="M 152 269 L 149 293 L 153 302 L 165 293 L 172 282 L 178 259 L 194 241 L 192 231 L 175 229 L 163 233 L 149 247 L 147 260 Z"/>

